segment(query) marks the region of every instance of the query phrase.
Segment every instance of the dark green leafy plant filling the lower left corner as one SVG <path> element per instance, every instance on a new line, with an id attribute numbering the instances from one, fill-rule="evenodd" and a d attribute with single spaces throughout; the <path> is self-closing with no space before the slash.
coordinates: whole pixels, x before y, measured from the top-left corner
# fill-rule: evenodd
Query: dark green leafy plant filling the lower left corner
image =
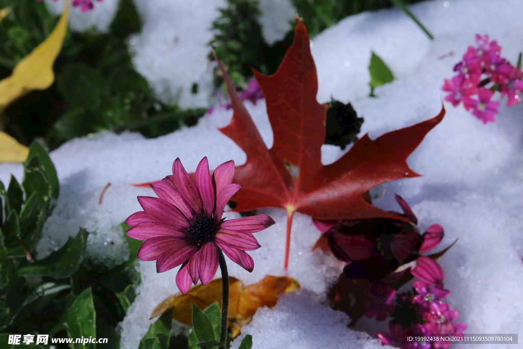
<path id="1" fill-rule="evenodd" d="M 129 258 L 109 269 L 85 259 L 88 232 L 80 229 L 61 249 L 36 260 L 43 223 L 58 198 L 58 177 L 37 142 L 24 172 L 21 185 L 12 177 L 5 190 L 0 182 L 0 339 L 9 333 L 93 336 L 108 344 L 86 347 L 117 349 L 116 327 L 140 283 L 135 266 L 141 241 L 126 235 Z"/>

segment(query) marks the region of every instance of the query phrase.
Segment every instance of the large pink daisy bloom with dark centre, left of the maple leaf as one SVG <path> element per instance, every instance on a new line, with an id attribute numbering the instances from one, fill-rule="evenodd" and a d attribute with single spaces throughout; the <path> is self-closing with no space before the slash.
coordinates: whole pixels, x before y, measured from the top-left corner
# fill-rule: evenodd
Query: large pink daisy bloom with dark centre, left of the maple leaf
<path id="1" fill-rule="evenodd" d="M 223 210 L 241 186 L 232 184 L 234 162 L 216 168 L 211 177 L 207 157 L 196 168 L 196 183 L 179 159 L 173 175 L 151 184 L 156 197 L 139 196 L 143 211 L 126 223 L 127 235 L 144 243 L 137 257 L 156 260 L 156 271 L 166 272 L 181 264 L 176 285 L 184 294 L 199 280 L 211 282 L 218 270 L 219 250 L 234 263 L 252 272 L 254 261 L 245 251 L 260 245 L 252 233 L 264 230 L 274 220 L 267 215 L 222 220 Z"/>

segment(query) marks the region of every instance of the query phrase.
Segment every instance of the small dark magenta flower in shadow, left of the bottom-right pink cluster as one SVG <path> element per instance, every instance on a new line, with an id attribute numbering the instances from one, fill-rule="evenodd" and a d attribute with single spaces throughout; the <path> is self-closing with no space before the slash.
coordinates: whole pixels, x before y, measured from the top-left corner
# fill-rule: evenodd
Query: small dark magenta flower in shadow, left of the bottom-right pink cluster
<path id="1" fill-rule="evenodd" d="M 365 314 L 369 318 L 376 316 L 376 320 L 383 321 L 396 308 L 396 303 L 393 301 L 396 290 L 389 285 L 374 283 L 365 290 L 365 293 L 371 299 L 363 303 Z"/>

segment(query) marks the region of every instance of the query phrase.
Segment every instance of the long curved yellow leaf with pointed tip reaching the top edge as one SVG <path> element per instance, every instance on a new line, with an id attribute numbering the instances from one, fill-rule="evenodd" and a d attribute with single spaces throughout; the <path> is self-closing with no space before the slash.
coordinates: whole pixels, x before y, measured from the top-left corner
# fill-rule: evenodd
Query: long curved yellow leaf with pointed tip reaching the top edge
<path id="1" fill-rule="evenodd" d="M 62 16 L 51 35 L 18 62 L 13 74 L 0 81 L 0 112 L 33 89 L 51 86 L 54 81 L 53 64 L 62 49 L 68 14 L 69 0 L 65 2 Z"/>

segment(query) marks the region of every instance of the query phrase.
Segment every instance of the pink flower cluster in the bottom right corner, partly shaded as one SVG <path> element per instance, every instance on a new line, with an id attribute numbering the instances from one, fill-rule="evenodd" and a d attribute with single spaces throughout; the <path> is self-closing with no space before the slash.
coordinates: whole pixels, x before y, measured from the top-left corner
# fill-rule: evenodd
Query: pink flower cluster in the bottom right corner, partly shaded
<path id="1" fill-rule="evenodd" d="M 444 289 L 443 283 L 431 285 L 420 280 L 413 282 L 414 294 L 406 294 L 397 297 L 401 302 L 401 309 L 393 313 L 397 321 L 389 323 L 389 331 L 378 332 L 376 336 L 383 345 L 393 345 L 401 349 L 448 349 L 450 342 L 419 342 L 407 341 L 407 336 L 431 336 L 438 334 L 456 335 L 463 334 L 467 325 L 453 322 L 459 317 L 456 309 L 442 301 L 450 295 L 450 291 Z M 412 316 L 414 314 L 414 316 Z M 405 323 L 405 319 L 411 319 Z M 408 320 L 407 320 L 408 321 Z"/>

